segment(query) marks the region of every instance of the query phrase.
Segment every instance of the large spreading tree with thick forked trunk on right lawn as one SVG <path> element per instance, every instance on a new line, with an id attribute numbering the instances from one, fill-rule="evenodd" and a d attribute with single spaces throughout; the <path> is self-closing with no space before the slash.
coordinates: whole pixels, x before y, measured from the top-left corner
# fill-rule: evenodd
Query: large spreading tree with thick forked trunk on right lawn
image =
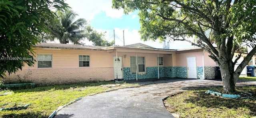
<path id="1" fill-rule="evenodd" d="M 220 66 L 224 93 L 234 93 L 243 68 L 256 53 L 256 0 L 112 0 L 128 14 L 139 10 L 143 40 L 186 40 L 210 53 Z M 186 37 L 196 37 L 190 41 Z M 250 46 L 234 66 L 240 47 Z M 238 51 L 239 52 L 239 51 Z"/>

